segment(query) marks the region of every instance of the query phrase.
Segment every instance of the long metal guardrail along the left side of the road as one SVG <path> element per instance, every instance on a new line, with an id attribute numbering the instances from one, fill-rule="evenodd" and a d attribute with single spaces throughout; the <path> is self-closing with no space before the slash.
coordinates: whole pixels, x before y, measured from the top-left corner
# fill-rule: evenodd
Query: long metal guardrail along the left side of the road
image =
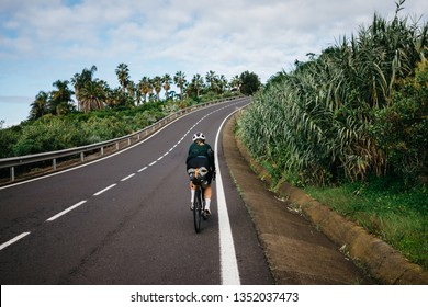
<path id="1" fill-rule="evenodd" d="M 203 109 L 206 106 L 210 106 L 212 104 L 216 103 L 222 103 L 238 98 L 228 98 L 228 99 L 219 99 L 211 102 L 206 102 L 203 104 L 196 104 L 192 105 L 185 109 L 182 109 L 176 113 L 172 113 L 158 122 L 151 124 L 150 126 L 147 126 L 138 132 L 135 132 L 133 134 L 105 140 L 105 141 L 100 141 L 97 144 L 91 144 L 91 145 L 86 145 L 86 146 L 80 146 L 80 147 L 75 147 L 75 148 L 69 148 L 69 149 L 63 149 L 63 150 L 56 150 L 56 151 L 49 151 L 49 152 L 42 152 L 42 154 L 35 154 L 35 155 L 27 155 L 27 156 L 21 156 L 21 157 L 12 157 L 12 158 L 4 158 L 0 159 L 0 169 L 9 168 L 10 169 L 10 181 L 8 183 L 12 183 L 15 181 L 15 168 L 20 166 L 25 166 L 25 164 L 31 164 L 31 163 L 36 163 L 36 162 L 43 162 L 43 161 L 48 161 L 52 160 L 52 168 L 54 171 L 57 170 L 57 159 L 64 158 L 64 157 L 70 157 L 70 156 L 78 156 L 80 155 L 80 162 L 85 162 L 85 154 L 88 151 L 94 151 L 94 150 L 100 150 L 101 157 L 104 156 L 104 149 L 111 146 L 116 146 L 116 151 L 121 150 L 120 144 L 123 141 L 127 141 L 127 146 L 132 144 L 136 144 L 140 140 L 144 140 L 146 137 L 155 133 L 157 129 L 161 128 L 166 124 L 177 120 L 178 117 L 181 117 L 184 114 L 191 113 L 196 109 Z M 134 143 L 133 143 L 134 141 Z M 122 149 L 126 148 L 123 147 Z"/>

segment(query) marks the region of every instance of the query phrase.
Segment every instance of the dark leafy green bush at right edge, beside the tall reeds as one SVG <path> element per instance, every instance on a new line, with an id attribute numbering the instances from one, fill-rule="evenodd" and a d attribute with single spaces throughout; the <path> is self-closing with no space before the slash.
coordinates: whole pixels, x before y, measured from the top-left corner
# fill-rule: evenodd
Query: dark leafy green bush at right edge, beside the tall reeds
<path id="1" fill-rule="evenodd" d="M 391 171 L 412 184 L 428 174 L 428 61 L 403 83 L 392 102 L 376 112 L 371 133 L 387 154 Z"/>

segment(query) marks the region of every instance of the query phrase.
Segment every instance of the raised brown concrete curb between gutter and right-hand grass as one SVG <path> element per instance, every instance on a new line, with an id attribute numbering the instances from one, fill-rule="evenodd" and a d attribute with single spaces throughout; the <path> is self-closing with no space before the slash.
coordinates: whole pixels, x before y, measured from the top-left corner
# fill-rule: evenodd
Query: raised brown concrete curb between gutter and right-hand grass
<path id="1" fill-rule="evenodd" d="M 229 121 L 236 121 L 236 115 Z M 243 158 L 248 162 L 256 174 L 272 183 L 268 172 L 248 154 L 240 139 L 235 140 Z M 427 285 L 428 272 L 421 266 L 408 262 L 403 254 L 394 250 L 386 242 L 371 236 L 365 229 L 333 212 L 327 206 L 309 197 L 303 190 L 283 183 L 278 187 L 281 196 L 286 196 L 292 204 L 299 204 L 302 212 L 312 223 L 317 225 L 337 246 L 345 247 L 349 255 L 363 263 L 370 274 L 382 284 L 388 285 Z"/>

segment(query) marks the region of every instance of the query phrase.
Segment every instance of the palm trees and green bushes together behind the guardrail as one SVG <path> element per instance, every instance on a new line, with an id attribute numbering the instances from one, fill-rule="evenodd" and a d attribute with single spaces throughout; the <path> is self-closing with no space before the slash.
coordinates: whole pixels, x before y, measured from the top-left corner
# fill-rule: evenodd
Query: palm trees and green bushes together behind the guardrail
<path id="1" fill-rule="evenodd" d="M 0 158 L 24 156 L 93 144 L 142 129 L 159 118 L 192 104 L 236 94 L 251 94 L 260 81 L 245 71 L 227 82 L 214 71 L 200 75 L 189 83 L 177 72 L 173 82 L 180 94 L 170 91 L 171 78 L 142 78 L 136 87 L 129 70 L 121 64 L 116 69 L 120 88 L 111 90 L 106 82 L 94 79 L 97 68 L 83 69 L 70 82 L 54 82 L 55 90 L 41 91 L 32 103 L 29 121 L 1 129 Z M 161 90 L 165 99 L 160 98 Z M 77 102 L 72 101 L 75 95 Z"/>

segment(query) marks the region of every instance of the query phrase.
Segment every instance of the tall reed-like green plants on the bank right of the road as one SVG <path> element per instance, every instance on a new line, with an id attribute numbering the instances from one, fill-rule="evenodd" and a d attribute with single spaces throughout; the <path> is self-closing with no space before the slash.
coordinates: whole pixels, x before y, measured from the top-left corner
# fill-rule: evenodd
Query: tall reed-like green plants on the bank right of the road
<path id="1" fill-rule="evenodd" d="M 427 24 L 408 26 L 399 10 L 391 22 L 375 14 L 358 36 L 272 78 L 239 124 L 256 157 L 303 184 L 386 172 L 371 126 L 427 55 Z"/>

